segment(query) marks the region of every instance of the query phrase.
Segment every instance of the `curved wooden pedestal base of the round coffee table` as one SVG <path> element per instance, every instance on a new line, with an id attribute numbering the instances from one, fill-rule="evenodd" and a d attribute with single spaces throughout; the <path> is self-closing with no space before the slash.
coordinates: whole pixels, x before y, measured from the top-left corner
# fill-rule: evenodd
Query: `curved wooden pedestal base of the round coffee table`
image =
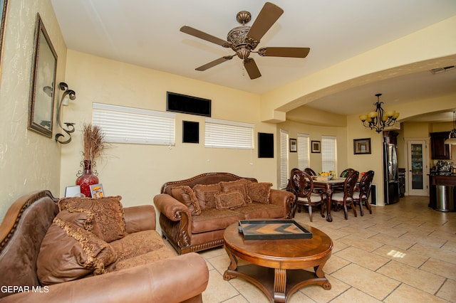
<path id="1" fill-rule="evenodd" d="M 322 271 L 316 269 L 316 272 Z M 331 289 L 331 283 L 324 275 L 317 277 L 315 272 L 307 270 L 281 270 L 249 264 L 224 272 L 224 280 L 231 280 L 234 277 L 251 282 L 273 302 L 287 302 L 291 294 L 307 285 L 316 284 L 323 289 Z"/>

